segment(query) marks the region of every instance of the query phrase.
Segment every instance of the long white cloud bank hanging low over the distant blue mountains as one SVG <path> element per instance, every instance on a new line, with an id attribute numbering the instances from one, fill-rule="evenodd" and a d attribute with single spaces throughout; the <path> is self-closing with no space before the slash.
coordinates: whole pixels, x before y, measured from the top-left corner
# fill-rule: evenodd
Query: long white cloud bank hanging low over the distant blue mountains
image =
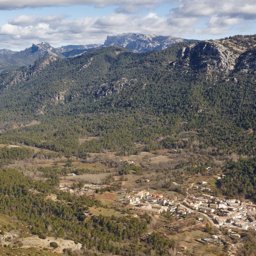
<path id="1" fill-rule="evenodd" d="M 3 42 L 8 42 L 17 48 L 41 41 L 48 41 L 57 46 L 60 43 L 103 43 L 107 35 L 124 32 L 178 34 L 179 31 L 180 29 L 168 24 L 166 17 L 157 16 L 153 12 L 144 16 L 112 13 L 101 17 L 74 20 L 66 19 L 65 15 L 42 17 L 21 15 L 9 20 L 0 28 L 0 41 L 2 47 Z"/>

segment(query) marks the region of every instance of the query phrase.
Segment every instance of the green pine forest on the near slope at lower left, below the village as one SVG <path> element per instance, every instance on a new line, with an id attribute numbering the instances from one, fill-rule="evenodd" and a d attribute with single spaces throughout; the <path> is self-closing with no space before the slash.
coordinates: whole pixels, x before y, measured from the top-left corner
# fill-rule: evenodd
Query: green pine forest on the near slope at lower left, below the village
<path id="1" fill-rule="evenodd" d="M 18 171 L 0 171 L 0 213 L 31 225 L 33 234 L 53 235 L 83 244 L 86 250 L 119 255 L 168 255 L 175 244 L 160 234 L 145 237 L 150 216 L 140 218 L 85 216 L 88 207 L 101 203 L 83 195 L 74 197 L 59 192 L 50 182 L 35 182 Z M 33 193 L 37 191 L 37 193 Z M 57 201 L 46 198 L 56 193 Z"/>

